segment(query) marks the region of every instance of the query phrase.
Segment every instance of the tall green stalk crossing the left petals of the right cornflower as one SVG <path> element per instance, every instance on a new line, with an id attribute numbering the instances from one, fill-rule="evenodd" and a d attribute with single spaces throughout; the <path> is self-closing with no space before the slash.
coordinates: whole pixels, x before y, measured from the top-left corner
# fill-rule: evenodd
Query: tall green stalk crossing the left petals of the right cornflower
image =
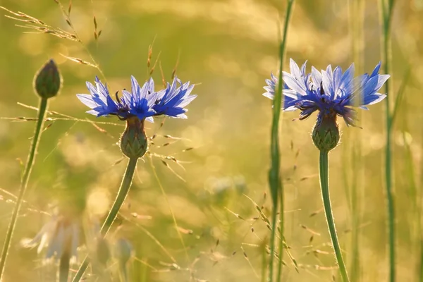
<path id="1" fill-rule="evenodd" d="M 268 281 L 273 281 L 274 275 L 274 251 L 275 251 L 275 235 L 278 228 L 276 228 L 276 219 L 278 213 L 278 201 L 281 202 L 281 234 L 283 234 L 283 185 L 281 181 L 280 168 L 281 156 L 279 153 L 279 121 L 281 119 L 281 106 L 282 106 L 282 67 L 283 57 L 286 49 L 286 37 L 288 35 L 288 27 L 291 11 L 293 8 L 294 0 L 288 0 L 286 8 L 285 25 L 283 27 L 283 39 L 279 48 L 279 79 L 278 91 L 274 97 L 273 102 L 273 121 L 271 125 L 271 168 L 269 170 L 269 186 L 271 192 L 271 199 L 273 203 L 272 221 L 271 221 L 271 237 L 270 237 L 270 258 L 269 258 L 269 277 Z M 279 195 L 280 193 L 280 195 Z M 281 245 L 283 244 L 283 236 L 281 235 Z M 279 248 L 279 264 L 278 264 L 278 277 L 281 276 L 282 269 L 283 248 Z M 278 280 L 279 281 L 279 280 Z"/>

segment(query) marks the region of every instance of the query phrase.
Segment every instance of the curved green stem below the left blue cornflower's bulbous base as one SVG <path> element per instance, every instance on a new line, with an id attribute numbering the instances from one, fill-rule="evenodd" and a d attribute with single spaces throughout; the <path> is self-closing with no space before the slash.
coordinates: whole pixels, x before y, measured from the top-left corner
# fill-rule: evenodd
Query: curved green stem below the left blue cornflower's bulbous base
<path id="1" fill-rule="evenodd" d="M 125 175 L 122 179 L 121 187 L 119 188 L 118 195 L 116 196 L 116 200 L 114 201 L 113 206 L 111 207 L 109 214 L 107 215 L 106 220 L 103 223 L 101 231 L 103 237 L 107 234 L 107 232 L 109 232 L 111 225 L 113 224 L 114 220 L 116 219 L 116 216 L 118 215 L 119 209 L 121 209 L 122 204 L 125 201 L 126 196 L 128 195 L 129 188 L 134 177 L 135 168 L 137 166 L 137 161 L 137 158 L 129 159 Z M 72 282 L 80 281 L 82 275 L 84 274 L 89 264 L 90 262 L 88 261 L 88 258 L 85 257 L 80 268 L 78 269 L 78 272 L 75 274 L 75 277 L 73 277 Z"/>

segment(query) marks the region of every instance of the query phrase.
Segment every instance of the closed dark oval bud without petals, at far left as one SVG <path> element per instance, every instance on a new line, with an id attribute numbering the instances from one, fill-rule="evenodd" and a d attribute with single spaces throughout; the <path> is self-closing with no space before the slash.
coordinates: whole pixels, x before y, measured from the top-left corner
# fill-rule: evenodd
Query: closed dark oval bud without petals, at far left
<path id="1" fill-rule="evenodd" d="M 34 90 L 39 97 L 48 99 L 56 96 L 62 85 L 62 77 L 53 59 L 39 69 L 34 77 Z"/>

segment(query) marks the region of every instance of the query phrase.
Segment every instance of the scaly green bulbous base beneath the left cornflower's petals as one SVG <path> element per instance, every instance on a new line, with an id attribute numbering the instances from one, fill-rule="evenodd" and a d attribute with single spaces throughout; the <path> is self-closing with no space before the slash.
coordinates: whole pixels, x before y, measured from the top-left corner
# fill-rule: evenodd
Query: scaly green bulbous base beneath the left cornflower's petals
<path id="1" fill-rule="evenodd" d="M 148 141 L 144 120 L 132 116 L 126 120 L 125 132 L 121 137 L 121 150 L 128 158 L 140 158 L 147 152 Z"/>

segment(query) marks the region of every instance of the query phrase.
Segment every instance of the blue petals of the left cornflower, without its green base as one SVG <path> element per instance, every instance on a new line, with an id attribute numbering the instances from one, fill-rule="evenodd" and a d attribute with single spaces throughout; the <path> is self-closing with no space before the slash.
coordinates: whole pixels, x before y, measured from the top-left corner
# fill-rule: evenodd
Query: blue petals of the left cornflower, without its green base
<path id="1" fill-rule="evenodd" d="M 180 87 L 177 87 L 177 84 Z M 80 101 L 91 108 L 88 114 L 94 116 L 114 115 L 122 120 L 136 117 L 140 121 L 153 122 L 153 116 L 171 116 L 174 118 L 186 118 L 184 109 L 197 95 L 190 95 L 194 85 L 190 82 L 182 84 L 178 78 L 174 78 L 172 84 L 167 84 L 164 90 L 154 91 L 154 80 L 149 78 L 142 87 L 137 80 L 131 76 L 131 92 L 122 91 L 122 97 L 116 101 L 111 98 L 107 85 L 104 85 L 99 78 L 95 78 L 95 86 L 86 82 L 90 94 L 77 94 Z"/>

